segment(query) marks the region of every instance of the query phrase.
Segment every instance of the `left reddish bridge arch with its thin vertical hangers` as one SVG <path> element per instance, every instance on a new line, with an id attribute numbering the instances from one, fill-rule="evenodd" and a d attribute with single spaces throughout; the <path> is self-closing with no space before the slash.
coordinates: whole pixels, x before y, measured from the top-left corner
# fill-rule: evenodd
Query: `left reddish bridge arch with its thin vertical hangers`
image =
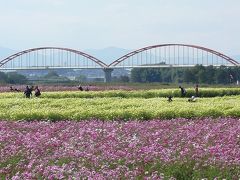
<path id="1" fill-rule="evenodd" d="M 65 54 L 63 54 L 63 52 Z M 66 53 L 68 53 L 68 54 L 66 54 Z M 72 57 L 72 54 L 74 54 L 73 57 Z M 20 60 L 18 59 L 19 60 L 18 63 L 13 62 L 17 58 L 20 58 L 23 56 L 26 56 L 25 58 L 29 62 L 23 62 L 23 59 L 20 59 Z M 39 56 L 41 56 L 41 57 L 39 57 Z M 79 57 L 84 58 L 84 61 L 85 61 L 84 67 L 81 65 L 81 62 L 79 62 L 79 61 L 81 61 L 81 58 L 79 58 Z M 31 58 L 33 60 L 30 60 Z M 61 64 L 59 62 L 58 65 L 54 65 L 55 58 L 56 58 L 55 61 L 62 61 L 61 63 L 63 63 L 63 64 Z M 71 65 L 71 63 L 70 63 L 70 66 L 64 67 L 64 66 L 66 66 L 66 63 L 68 60 L 70 60 L 70 61 L 72 60 L 75 63 L 72 62 L 73 65 Z M 21 63 L 20 63 L 20 61 L 21 61 Z M 33 66 L 30 65 L 31 64 L 30 61 L 34 61 Z M 39 64 L 39 61 L 43 61 L 42 64 Z M 52 61 L 52 62 L 50 63 L 48 61 Z M 88 64 L 89 61 L 91 61 L 91 63 L 93 64 L 92 66 L 90 66 Z M 4 68 L 4 66 L 6 66 L 7 64 L 9 64 L 9 66 L 10 66 L 11 65 L 10 62 L 12 62 L 12 66 L 15 66 L 15 69 L 94 68 L 94 67 L 107 68 L 108 67 L 107 64 L 105 64 L 101 60 L 99 60 L 87 53 L 84 53 L 84 52 L 78 51 L 78 50 L 74 50 L 74 49 L 70 49 L 70 48 L 60 48 L 60 47 L 39 47 L 39 48 L 27 49 L 27 50 L 15 53 L 15 54 L 3 59 L 2 61 L 0 61 L 0 68 L 7 69 L 8 67 Z M 18 67 L 16 68 L 16 66 L 18 66 Z M 9 69 L 14 69 L 14 68 L 11 67 Z"/>

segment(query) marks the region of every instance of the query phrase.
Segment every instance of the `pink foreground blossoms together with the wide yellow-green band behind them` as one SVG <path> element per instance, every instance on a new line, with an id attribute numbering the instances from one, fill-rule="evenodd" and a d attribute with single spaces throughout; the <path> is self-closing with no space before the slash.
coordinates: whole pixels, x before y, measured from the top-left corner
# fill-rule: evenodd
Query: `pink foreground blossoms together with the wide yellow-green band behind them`
<path id="1" fill-rule="evenodd" d="M 0 94 L 0 179 L 240 178 L 238 96 L 50 95 Z"/>

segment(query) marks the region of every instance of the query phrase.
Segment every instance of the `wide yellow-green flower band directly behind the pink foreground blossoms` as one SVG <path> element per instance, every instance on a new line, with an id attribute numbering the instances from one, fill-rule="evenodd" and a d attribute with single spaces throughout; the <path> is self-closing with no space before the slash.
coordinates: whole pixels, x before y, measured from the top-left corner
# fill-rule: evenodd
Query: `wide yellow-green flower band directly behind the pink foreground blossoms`
<path id="1" fill-rule="evenodd" d="M 32 99 L 25 99 L 22 94 L 4 93 L 0 95 L 0 119 L 149 120 L 240 117 L 240 96 L 198 98 L 192 103 L 187 98 L 173 98 L 173 102 L 169 103 L 167 98 L 155 97 L 160 93 L 165 94 L 165 90 L 144 91 L 143 94 L 139 91 L 55 92 Z M 88 98 L 82 98 L 86 96 Z M 154 98 L 150 98 L 152 96 Z"/>

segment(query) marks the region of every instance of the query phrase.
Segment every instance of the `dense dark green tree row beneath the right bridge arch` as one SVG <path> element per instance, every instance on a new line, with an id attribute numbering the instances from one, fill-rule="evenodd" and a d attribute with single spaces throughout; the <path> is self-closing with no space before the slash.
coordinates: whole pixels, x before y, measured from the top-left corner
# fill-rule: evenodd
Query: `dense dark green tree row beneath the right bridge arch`
<path id="1" fill-rule="evenodd" d="M 188 68 L 133 68 L 132 82 L 231 84 L 240 79 L 239 67 L 196 65 Z"/>

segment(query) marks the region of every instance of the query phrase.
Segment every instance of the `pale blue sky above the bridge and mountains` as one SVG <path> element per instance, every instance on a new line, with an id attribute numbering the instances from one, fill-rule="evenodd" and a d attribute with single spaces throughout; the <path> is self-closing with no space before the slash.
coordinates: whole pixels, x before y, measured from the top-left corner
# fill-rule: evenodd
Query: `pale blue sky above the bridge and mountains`
<path id="1" fill-rule="evenodd" d="M 136 49 L 163 43 L 240 54 L 239 0 L 1 0 L 0 46 Z"/>

